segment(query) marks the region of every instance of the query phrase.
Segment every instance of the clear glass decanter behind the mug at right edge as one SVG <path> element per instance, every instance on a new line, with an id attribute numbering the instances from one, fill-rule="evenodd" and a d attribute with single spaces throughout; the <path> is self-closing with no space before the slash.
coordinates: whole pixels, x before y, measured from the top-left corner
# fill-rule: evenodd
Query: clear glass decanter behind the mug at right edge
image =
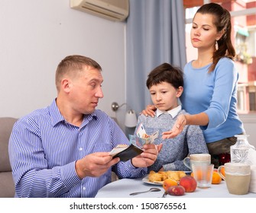
<path id="1" fill-rule="evenodd" d="M 230 157 L 232 163 L 242 163 L 251 165 L 250 159 L 248 159 L 248 151 L 254 146 L 250 145 L 247 138 L 249 135 L 235 135 L 237 141 L 235 145 L 230 147 Z"/>

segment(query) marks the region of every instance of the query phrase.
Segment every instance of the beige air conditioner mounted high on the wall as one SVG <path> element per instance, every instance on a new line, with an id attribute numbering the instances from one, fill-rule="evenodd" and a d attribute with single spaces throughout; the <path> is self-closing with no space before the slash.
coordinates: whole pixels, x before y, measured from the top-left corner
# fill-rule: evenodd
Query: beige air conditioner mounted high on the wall
<path id="1" fill-rule="evenodd" d="M 129 0 L 70 0 L 70 7 L 112 21 L 125 21 L 129 14 Z"/>

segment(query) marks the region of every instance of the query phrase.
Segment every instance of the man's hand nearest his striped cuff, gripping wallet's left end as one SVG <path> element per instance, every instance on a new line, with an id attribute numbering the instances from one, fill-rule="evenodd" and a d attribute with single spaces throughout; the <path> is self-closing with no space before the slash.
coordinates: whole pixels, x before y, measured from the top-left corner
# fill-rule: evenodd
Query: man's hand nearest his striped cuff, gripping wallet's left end
<path id="1" fill-rule="evenodd" d="M 109 152 L 96 152 L 88 154 L 76 161 L 76 173 L 80 179 L 86 176 L 101 176 L 109 167 L 117 164 L 119 157 L 112 158 Z"/>

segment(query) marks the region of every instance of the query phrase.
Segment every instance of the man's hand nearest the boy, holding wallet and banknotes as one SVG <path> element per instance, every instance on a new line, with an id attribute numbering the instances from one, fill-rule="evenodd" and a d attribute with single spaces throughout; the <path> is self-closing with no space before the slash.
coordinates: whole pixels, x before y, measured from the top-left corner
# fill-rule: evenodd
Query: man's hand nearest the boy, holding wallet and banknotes
<path id="1" fill-rule="evenodd" d="M 149 167 L 154 164 L 154 161 L 157 160 L 157 155 L 160 152 L 163 144 L 160 145 L 144 145 L 142 152 L 137 157 L 131 159 L 131 164 L 134 167 Z"/>

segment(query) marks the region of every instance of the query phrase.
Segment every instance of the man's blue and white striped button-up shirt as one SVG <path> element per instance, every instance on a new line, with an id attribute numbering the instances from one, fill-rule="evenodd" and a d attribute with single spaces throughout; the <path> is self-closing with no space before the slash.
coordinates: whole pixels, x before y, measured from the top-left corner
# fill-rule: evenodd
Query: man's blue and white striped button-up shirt
<path id="1" fill-rule="evenodd" d="M 131 161 L 119 162 L 99 177 L 76 174 L 75 163 L 87 154 L 111 151 L 128 138 L 113 119 L 101 110 L 84 115 L 81 126 L 63 119 L 53 103 L 35 110 L 15 123 L 9 141 L 9 156 L 18 197 L 95 197 L 111 182 L 111 172 L 119 178 L 137 178 L 147 168 L 135 168 Z M 118 190 L 118 189 L 117 189 Z"/>

